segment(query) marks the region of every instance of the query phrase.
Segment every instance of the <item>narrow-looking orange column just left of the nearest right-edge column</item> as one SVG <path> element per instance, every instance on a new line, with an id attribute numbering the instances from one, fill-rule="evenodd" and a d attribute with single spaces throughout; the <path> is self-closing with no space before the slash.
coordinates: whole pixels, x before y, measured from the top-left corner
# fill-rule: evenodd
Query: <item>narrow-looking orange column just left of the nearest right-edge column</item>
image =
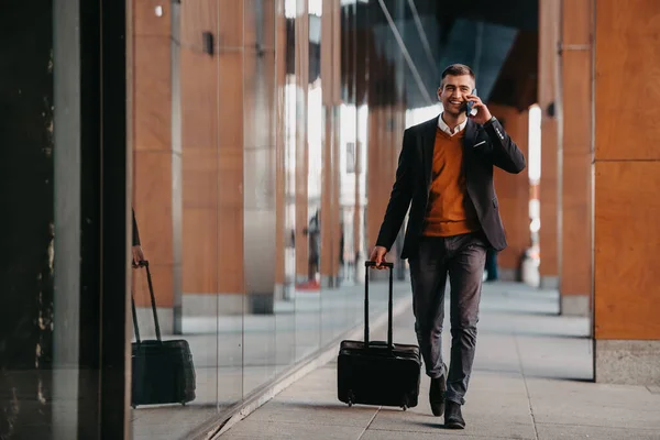
<path id="1" fill-rule="evenodd" d="M 563 0 L 561 314 L 591 310 L 592 0 Z"/>

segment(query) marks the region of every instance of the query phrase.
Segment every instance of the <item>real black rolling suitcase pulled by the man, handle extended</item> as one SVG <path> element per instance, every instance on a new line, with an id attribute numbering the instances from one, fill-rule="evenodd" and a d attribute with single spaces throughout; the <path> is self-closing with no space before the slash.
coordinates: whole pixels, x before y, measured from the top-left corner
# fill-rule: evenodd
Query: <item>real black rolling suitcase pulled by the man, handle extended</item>
<path id="1" fill-rule="evenodd" d="M 337 365 L 339 399 L 354 404 L 398 406 L 404 410 L 417 406 L 421 358 L 417 345 L 392 342 L 393 268 L 389 267 L 387 342 L 369 340 L 369 271 L 364 280 L 364 341 L 342 341 Z"/>

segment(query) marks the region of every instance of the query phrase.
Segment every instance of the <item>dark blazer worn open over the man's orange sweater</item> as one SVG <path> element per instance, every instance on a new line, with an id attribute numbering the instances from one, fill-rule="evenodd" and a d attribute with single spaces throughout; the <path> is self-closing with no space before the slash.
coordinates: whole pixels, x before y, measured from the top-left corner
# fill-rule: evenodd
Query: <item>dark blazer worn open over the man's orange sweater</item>
<path id="1" fill-rule="evenodd" d="M 408 226 L 402 258 L 414 256 L 424 231 L 427 212 L 433 146 L 438 117 L 410 127 L 404 132 L 404 145 L 396 169 L 396 180 L 385 211 L 376 245 L 389 250 L 396 240 L 408 207 Z M 484 125 L 468 120 L 463 138 L 463 167 L 468 195 L 486 239 L 496 251 L 506 248 L 506 237 L 493 187 L 493 166 L 517 174 L 525 169 L 525 156 L 496 119 Z"/>

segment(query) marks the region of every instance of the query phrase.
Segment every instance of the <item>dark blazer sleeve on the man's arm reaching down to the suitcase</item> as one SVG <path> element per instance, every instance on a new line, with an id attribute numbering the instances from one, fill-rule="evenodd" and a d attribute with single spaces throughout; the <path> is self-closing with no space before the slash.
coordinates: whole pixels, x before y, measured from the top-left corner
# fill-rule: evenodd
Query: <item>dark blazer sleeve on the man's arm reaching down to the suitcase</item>
<path id="1" fill-rule="evenodd" d="M 385 218 L 381 224 L 378 239 L 376 240 L 377 246 L 383 246 L 388 251 L 396 240 L 396 235 L 402 228 L 406 212 L 408 212 L 408 208 L 410 207 L 410 200 L 413 199 L 414 155 L 415 136 L 408 129 L 404 132 L 404 143 L 396 168 L 396 179 L 389 195 Z"/>

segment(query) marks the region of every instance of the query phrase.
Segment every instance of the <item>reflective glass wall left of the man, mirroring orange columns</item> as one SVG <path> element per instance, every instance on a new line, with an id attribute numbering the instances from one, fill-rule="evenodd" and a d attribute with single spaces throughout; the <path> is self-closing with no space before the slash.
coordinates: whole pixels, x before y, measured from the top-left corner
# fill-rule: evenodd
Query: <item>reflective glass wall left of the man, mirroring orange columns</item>
<path id="1" fill-rule="evenodd" d="M 135 0 L 132 20 L 133 208 L 163 339 L 188 342 L 197 382 L 132 429 L 189 438 L 362 323 L 406 67 L 377 2 Z M 132 286 L 152 339 L 143 270 Z"/>

